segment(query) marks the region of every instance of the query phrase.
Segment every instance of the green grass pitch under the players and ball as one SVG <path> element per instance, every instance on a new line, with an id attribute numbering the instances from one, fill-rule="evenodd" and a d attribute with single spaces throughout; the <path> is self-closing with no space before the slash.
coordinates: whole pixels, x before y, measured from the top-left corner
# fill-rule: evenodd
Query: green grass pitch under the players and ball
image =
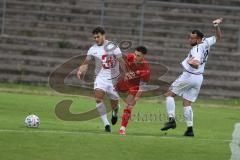
<path id="1" fill-rule="evenodd" d="M 0 159 L 229 160 L 234 124 L 240 122 L 239 99 L 199 99 L 193 105 L 195 137 L 183 137 L 186 126 L 182 102 L 177 99 L 177 128 L 161 132 L 166 120 L 164 99 L 148 98 L 137 103 L 127 135 L 120 136 L 120 122 L 107 134 L 99 118 L 85 122 L 58 119 L 54 107 L 63 99 L 74 101 L 74 113 L 95 107 L 92 98 L 59 95 L 47 87 L 0 84 Z M 40 117 L 39 128 L 24 126 L 29 113 Z M 157 118 L 149 118 L 151 114 Z"/>

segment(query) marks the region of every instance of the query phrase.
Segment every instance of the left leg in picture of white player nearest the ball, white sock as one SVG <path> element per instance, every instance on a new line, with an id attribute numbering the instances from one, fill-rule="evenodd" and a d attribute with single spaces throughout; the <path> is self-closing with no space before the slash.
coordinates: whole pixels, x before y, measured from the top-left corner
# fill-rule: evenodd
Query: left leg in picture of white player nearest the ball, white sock
<path id="1" fill-rule="evenodd" d="M 96 107 L 101 116 L 102 122 L 104 123 L 105 131 L 111 132 L 110 123 L 108 122 L 108 119 L 107 119 L 106 107 L 103 102 L 105 92 L 101 89 L 95 89 L 94 95 L 95 95 L 95 99 L 96 99 Z"/>

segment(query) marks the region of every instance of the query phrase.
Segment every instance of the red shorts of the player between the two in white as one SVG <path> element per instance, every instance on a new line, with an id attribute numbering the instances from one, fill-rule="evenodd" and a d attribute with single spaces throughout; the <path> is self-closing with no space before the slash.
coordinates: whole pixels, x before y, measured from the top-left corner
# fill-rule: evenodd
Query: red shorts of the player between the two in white
<path id="1" fill-rule="evenodd" d="M 139 85 L 136 84 L 130 84 L 127 81 L 119 80 L 116 85 L 116 90 L 118 92 L 128 93 L 131 95 L 136 95 L 139 90 Z"/>

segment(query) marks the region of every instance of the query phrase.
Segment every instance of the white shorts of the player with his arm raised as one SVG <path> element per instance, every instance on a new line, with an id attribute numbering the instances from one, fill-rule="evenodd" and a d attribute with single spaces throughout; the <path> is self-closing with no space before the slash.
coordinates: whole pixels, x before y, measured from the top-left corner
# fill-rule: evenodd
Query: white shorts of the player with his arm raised
<path id="1" fill-rule="evenodd" d="M 183 72 L 170 86 L 170 90 L 186 100 L 195 102 L 203 81 L 202 75 Z"/>

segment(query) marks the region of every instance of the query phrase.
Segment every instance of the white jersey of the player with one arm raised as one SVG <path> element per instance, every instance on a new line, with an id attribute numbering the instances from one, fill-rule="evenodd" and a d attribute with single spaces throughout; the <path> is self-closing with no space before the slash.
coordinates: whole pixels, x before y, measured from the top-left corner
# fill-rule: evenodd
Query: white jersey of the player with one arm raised
<path id="1" fill-rule="evenodd" d="M 212 36 L 209 38 L 203 38 L 202 43 L 194 46 L 189 54 L 188 57 L 181 63 L 182 67 L 185 71 L 192 73 L 192 74 L 203 74 L 205 64 L 207 62 L 208 54 L 210 51 L 210 47 L 216 43 L 216 37 Z M 200 65 L 197 69 L 193 68 L 188 64 L 188 60 L 194 57 L 195 60 L 198 60 L 200 62 Z"/>

